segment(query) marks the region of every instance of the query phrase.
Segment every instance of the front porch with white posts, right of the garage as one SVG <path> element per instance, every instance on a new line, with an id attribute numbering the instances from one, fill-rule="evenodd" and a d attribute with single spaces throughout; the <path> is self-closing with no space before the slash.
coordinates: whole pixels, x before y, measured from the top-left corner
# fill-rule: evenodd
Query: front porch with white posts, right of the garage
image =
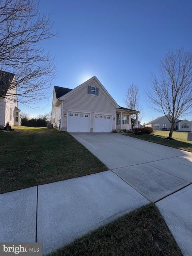
<path id="1" fill-rule="evenodd" d="M 135 114 L 135 125 L 134 128 L 138 127 L 138 111 Z M 117 109 L 116 111 L 116 129 L 120 130 L 131 130 L 131 113 L 126 108 Z"/>

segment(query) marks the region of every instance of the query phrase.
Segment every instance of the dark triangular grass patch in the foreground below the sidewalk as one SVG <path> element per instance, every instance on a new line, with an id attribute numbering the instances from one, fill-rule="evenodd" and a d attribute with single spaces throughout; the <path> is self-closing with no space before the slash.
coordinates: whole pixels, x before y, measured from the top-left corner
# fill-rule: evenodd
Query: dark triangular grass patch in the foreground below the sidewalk
<path id="1" fill-rule="evenodd" d="M 49 256 L 182 256 L 155 204 L 118 218 Z"/>

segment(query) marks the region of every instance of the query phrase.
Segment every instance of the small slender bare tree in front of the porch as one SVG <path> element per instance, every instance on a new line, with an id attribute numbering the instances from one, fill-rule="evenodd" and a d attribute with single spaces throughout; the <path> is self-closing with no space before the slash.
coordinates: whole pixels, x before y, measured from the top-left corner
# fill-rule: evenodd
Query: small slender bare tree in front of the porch
<path id="1" fill-rule="evenodd" d="M 131 115 L 131 128 L 133 129 L 136 121 L 137 116 L 140 115 L 140 120 L 142 119 L 141 114 L 141 104 L 140 104 L 140 97 L 139 97 L 139 88 L 135 84 L 131 84 L 128 87 L 128 90 L 125 94 L 124 102 L 126 104 L 126 107 L 130 109 L 130 115 Z"/>

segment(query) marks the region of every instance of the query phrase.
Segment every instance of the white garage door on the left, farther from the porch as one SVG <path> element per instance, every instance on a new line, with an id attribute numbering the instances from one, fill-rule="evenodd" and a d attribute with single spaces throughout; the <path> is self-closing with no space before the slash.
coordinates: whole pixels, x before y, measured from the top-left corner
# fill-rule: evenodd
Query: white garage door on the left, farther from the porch
<path id="1" fill-rule="evenodd" d="M 68 132 L 90 132 L 90 114 L 69 112 Z"/>

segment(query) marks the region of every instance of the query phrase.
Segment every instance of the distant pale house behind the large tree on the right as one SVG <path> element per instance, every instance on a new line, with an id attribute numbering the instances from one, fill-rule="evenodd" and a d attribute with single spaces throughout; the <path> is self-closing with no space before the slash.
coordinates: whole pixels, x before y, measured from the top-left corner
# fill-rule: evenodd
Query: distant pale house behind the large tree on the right
<path id="1" fill-rule="evenodd" d="M 145 126 L 153 127 L 155 130 L 170 130 L 171 124 L 166 116 L 160 116 L 147 124 Z M 186 131 L 191 132 L 192 123 L 188 120 L 177 119 L 174 124 L 175 131 Z"/>

